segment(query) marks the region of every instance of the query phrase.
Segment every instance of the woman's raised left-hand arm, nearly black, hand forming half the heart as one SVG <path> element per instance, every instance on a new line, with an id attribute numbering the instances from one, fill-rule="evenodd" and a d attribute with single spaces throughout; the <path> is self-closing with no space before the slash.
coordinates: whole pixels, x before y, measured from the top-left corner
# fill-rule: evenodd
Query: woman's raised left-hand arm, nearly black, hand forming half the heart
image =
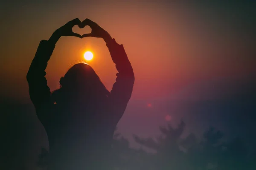
<path id="1" fill-rule="evenodd" d="M 50 99 L 51 92 L 47 86 L 47 79 L 45 78 L 47 62 L 52 55 L 56 42 L 61 36 L 76 36 L 81 38 L 81 35 L 72 32 L 72 27 L 80 23 L 81 21 L 79 19 L 72 20 L 61 28 L 58 28 L 48 41 L 42 40 L 30 65 L 26 76 L 29 84 L 29 96 L 41 122 L 47 119 L 47 115 L 41 114 L 45 113 L 43 110 L 53 105 Z"/>

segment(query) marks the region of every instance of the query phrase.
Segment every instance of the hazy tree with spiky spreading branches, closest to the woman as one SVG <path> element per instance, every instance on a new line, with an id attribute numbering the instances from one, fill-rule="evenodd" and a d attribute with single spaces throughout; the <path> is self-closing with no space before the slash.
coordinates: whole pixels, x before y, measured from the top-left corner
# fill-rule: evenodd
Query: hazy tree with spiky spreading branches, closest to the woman
<path id="1" fill-rule="evenodd" d="M 140 138 L 134 135 L 134 139 L 137 143 L 142 144 L 145 147 L 156 150 L 156 154 L 151 156 L 149 161 L 150 167 L 155 170 L 169 170 L 171 167 L 175 170 L 181 170 L 186 168 L 185 152 L 182 151 L 181 135 L 185 128 L 185 123 L 180 122 L 177 128 L 173 128 L 171 125 L 168 127 L 159 127 L 162 133 L 157 137 L 155 141 L 152 138 Z"/>

